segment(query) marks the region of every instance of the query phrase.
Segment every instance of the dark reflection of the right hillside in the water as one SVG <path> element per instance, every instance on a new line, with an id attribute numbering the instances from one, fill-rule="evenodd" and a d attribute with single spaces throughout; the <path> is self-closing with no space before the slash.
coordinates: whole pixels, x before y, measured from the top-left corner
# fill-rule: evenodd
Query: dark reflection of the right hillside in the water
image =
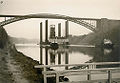
<path id="1" fill-rule="evenodd" d="M 120 61 L 120 47 L 114 49 L 103 48 L 70 48 L 71 51 L 81 52 L 92 56 L 91 62 L 115 62 Z"/>

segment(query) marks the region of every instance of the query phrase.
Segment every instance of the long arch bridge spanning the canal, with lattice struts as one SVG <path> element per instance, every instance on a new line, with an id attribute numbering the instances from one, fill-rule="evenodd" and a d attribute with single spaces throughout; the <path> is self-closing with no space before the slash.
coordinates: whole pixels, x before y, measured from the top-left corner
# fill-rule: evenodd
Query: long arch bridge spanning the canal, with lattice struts
<path id="1" fill-rule="evenodd" d="M 29 14 L 29 15 L 0 15 L 0 17 L 5 17 L 9 19 L 0 22 L 0 26 L 5 26 L 10 23 L 30 19 L 30 18 L 48 18 L 48 19 L 64 19 L 71 22 L 74 22 L 76 24 L 79 24 L 81 26 L 84 26 L 85 28 L 96 32 L 99 28 L 99 24 L 101 19 L 94 19 L 94 18 L 77 18 L 77 17 L 70 17 L 60 14 L 48 14 L 48 13 L 41 13 L 41 14 Z"/>

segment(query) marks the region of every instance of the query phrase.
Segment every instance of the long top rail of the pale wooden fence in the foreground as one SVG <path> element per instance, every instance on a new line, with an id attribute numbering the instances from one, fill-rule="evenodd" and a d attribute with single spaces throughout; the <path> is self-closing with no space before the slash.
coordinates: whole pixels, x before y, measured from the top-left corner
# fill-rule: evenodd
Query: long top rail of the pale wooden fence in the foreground
<path id="1" fill-rule="evenodd" d="M 117 65 L 120 62 L 100 62 L 100 63 L 82 63 L 82 64 L 64 64 L 64 65 L 36 65 L 35 68 L 44 68 L 44 67 L 64 67 L 64 66 L 81 66 L 81 65 Z"/>

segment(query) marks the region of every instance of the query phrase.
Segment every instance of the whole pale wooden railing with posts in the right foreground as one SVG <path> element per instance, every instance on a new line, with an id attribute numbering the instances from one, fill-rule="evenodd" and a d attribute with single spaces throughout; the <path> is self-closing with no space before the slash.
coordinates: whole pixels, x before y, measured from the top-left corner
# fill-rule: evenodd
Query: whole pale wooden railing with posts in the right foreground
<path id="1" fill-rule="evenodd" d="M 120 80 L 120 78 L 112 78 L 112 73 L 120 73 L 120 67 L 113 68 L 95 68 L 95 69 L 79 69 L 79 70 L 62 70 L 62 71 L 46 71 L 49 67 L 68 67 L 68 66 L 91 66 L 91 65 L 119 65 L 120 62 L 101 62 L 101 63 L 84 63 L 84 64 L 65 64 L 65 65 L 37 65 L 35 68 L 44 68 L 42 74 L 44 75 L 44 83 L 47 83 L 47 77 L 56 77 L 56 83 L 92 83 L 92 82 L 107 82 L 112 83 L 112 81 Z M 91 75 L 93 74 L 107 74 L 107 79 L 92 80 Z M 60 82 L 60 76 L 70 76 L 70 75 L 87 75 L 86 81 L 72 81 L 72 82 Z"/>

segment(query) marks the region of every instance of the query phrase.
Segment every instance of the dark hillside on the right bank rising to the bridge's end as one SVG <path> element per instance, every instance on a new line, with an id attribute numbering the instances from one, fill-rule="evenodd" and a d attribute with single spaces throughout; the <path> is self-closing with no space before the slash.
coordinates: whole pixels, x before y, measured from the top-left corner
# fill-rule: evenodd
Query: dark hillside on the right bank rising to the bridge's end
<path id="1" fill-rule="evenodd" d="M 104 38 L 110 39 L 114 44 L 120 44 L 120 21 L 108 21 L 104 29 L 96 33 L 89 33 L 83 36 L 70 36 L 70 44 L 101 44 Z M 71 41 L 72 40 L 72 41 Z"/>

